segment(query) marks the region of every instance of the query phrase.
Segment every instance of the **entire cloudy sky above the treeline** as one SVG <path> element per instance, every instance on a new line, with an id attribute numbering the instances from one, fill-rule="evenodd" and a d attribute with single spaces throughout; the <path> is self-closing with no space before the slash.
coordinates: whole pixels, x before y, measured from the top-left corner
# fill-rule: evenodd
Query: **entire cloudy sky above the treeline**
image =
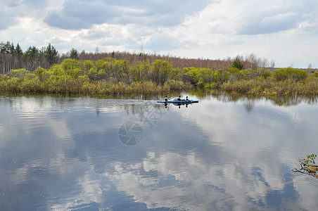
<path id="1" fill-rule="evenodd" d="M 317 0 L 0 0 L 0 41 L 318 68 Z"/>

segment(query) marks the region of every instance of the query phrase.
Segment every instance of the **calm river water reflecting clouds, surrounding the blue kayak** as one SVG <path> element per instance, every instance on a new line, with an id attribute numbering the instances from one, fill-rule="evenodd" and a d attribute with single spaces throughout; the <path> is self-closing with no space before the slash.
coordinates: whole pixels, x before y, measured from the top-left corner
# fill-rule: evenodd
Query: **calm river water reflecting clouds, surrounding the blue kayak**
<path id="1" fill-rule="evenodd" d="M 191 98 L 0 96 L 0 210 L 317 210 L 316 102 Z"/>

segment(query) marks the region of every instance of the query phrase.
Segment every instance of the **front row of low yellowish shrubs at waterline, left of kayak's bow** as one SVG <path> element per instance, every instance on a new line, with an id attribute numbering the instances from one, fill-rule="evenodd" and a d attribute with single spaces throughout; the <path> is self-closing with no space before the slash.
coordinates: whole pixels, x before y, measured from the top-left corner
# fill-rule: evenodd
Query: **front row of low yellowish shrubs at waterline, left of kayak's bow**
<path id="1" fill-rule="evenodd" d="M 177 87 L 177 88 L 176 88 Z M 190 89 L 183 82 L 170 80 L 163 85 L 153 82 L 108 82 L 106 80 L 89 81 L 87 77 L 73 79 L 67 76 L 49 77 L 41 80 L 34 75 L 25 77 L 0 76 L 1 92 L 13 94 L 84 94 L 84 95 L 117 95 L 117 94 L 157 94 L 175 90 Z"/>

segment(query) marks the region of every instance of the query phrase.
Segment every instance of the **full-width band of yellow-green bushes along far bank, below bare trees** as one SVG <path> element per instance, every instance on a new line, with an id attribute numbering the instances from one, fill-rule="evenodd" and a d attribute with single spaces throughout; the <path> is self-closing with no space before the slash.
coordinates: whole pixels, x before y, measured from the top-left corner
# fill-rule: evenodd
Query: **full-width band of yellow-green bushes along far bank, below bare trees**
<path id="1" fill-rule="evenodd" d="M 22 94 L 158 94 L 194 88 L 261 96 L 317 96 L 318 72 L 281 68 L 270 71 L 225 68 L 172 68 L 165 60 L 65 59 L 49 69 L 11 70 L 0 75 L 0 91 Z"/>

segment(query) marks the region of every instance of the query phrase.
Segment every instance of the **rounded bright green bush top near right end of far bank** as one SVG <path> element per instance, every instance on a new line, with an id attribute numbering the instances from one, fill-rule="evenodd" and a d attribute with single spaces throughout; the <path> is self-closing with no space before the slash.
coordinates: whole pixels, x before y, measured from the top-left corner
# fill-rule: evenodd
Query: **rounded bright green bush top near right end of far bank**
<path id="1" fill-rule="evenodd" d="M 293 69 L 293 68 L 281 68 L 275 70 L 272 77 L 276 81 L 284 81 L 286 79 L 292 79 L 293 81 L 299 81 L 300 79 L 305 79 L 307 77 L 307 72 L 305 70 Z"/>

